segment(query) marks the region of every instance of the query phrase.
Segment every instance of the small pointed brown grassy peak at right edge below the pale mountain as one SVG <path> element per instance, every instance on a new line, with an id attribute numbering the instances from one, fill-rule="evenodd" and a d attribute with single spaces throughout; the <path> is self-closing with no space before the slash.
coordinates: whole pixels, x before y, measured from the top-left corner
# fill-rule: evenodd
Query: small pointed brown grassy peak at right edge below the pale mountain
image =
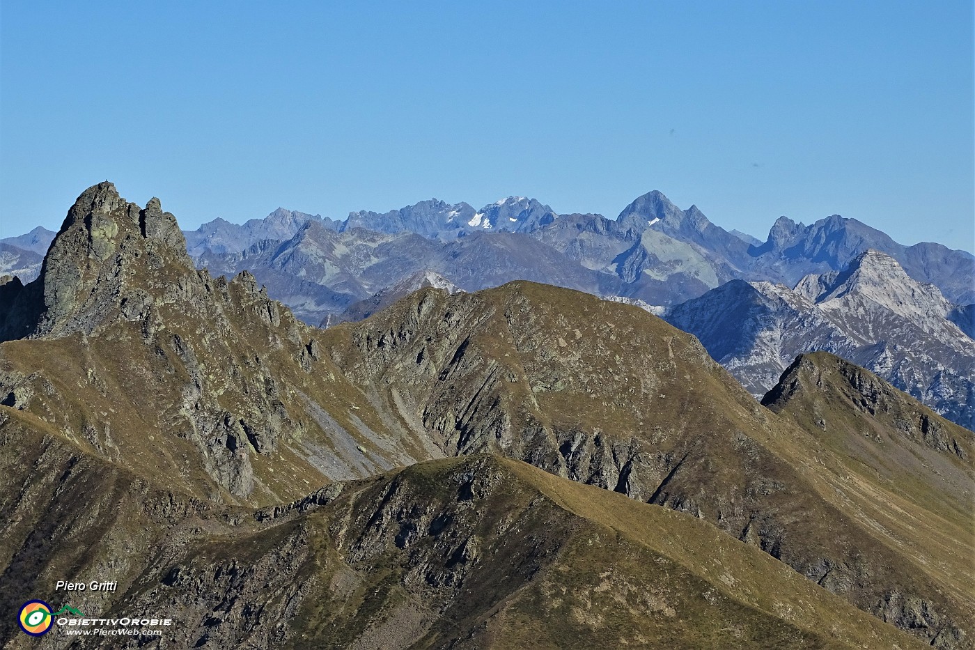
<path id="1" fill-rule="evenodd" d="M 834 474 L 858 486 L 847 493 L 862 521 L 971 598 L 975 434 L 827 352 L 800 355 L 762 403 L 807 431 Z"/>

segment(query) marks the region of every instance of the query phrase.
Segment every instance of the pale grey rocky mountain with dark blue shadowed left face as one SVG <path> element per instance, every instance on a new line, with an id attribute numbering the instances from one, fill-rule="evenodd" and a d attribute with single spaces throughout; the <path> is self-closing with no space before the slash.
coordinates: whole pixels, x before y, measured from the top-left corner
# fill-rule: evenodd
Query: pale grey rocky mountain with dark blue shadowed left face
<path id="1" fill-rule="evenodd" d="M 878 251 L 842 271 L 804 277 L 794 290 L 729 282 L 666 311 L 753 394 L 761 396 L 797 354 L 825 350 L 878 373 L 964 427 L 975 427 L 975 342 L 965 307 L 913 280 Z"/>

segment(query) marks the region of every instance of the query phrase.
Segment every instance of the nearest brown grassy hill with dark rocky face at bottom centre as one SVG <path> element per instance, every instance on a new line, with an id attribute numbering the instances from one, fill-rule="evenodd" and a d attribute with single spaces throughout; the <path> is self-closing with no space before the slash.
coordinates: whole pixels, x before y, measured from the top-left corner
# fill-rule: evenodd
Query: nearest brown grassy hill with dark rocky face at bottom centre
<path id="1" fill-rule="evenodd" d="M 130 504 L 158 501 L 131 475 L 107 480 Z M 72 600 L 178 621 L 144 647 L 921 647 L 704 521 L 493 456 L 339 483 L 284 508 L 165 515 L 175 523 L 152 554 L 138 552 L 151 533 L 129 543 L 132 578 L 115 597 Z M 101 523 L 93 542 L 110 550 L 137 530 Z"/>

